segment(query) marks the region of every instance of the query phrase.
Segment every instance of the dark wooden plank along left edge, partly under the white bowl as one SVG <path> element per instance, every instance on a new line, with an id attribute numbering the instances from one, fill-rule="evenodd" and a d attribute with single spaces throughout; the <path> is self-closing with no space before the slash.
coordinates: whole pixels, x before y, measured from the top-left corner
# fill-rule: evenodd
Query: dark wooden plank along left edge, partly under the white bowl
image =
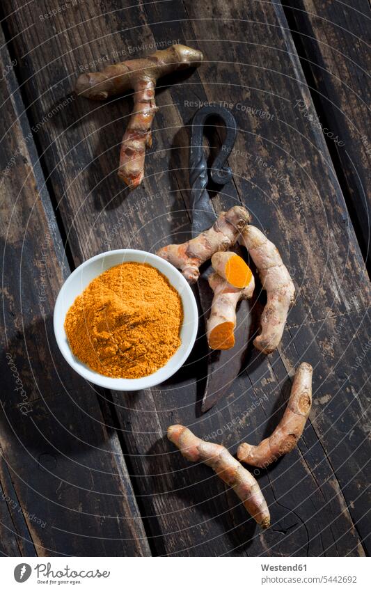
<path id="1" fill-rule="evenodd" d="M 12 71 L 0 88 L 2 551 L 148 555 L 118 436 L 56 347 L 68 264 Z"/>

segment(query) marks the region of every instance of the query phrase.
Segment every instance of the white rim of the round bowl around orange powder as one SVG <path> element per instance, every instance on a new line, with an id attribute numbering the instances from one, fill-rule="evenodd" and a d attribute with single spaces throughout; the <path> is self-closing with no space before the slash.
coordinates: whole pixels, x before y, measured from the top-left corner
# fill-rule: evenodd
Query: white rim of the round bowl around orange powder
<path id="1" fill-rule="evenodd" d="M 94 370 L 91 370 L 82 361 L 79 361 L 72 353 L 72 349 L 70 349 L 70 345 L 68 343 L 68 338 L 67 338 L 67 335 L 66 335 L 65 329 L 64 329 L 65 317 L 63 317 L 63 321 L 60 320 L 60 316 L 61 316 L 60 308 L 62 306 L 61 302 L 63 300 L 63 294 L 68 289 L 68 285 L 70 285 L 70 283 L 73 281 L 73 278 L 75 276 L 81 274 L 81 271 L 84 269 L 84 267 L 88 267 L 88 265 L 90 265 L 95 260 L 99 260 L 101 258 L 109 257 L 109 256 L 112 256 L 115 254 L 116 255 L 117 254 L 123 254 L 123 255 L 126 254 L 129 256 L 132 254 L 143 255 L 143 262 L 147 262 L 148 265 L 150 265 L 151 260 L 157 260 L 160 263 L 160 265 L 163 267 L 163 269 L 171 269 L 172 273 L 175 271 L 178 274 L 178 276 L 180 278 L 180 282 L 182 283 L 182 287 L 184 287 L 184 290 L 187 293 L 187 296 L 189 298 L 189 302 L 191 304 L 192 316 L 194 317 L 194 320 L 195 320 L 194 326 L 193 326 L 192 332 L 191 332 L 191 338 L 189 339 L 187 347 L 184 350 L 184 353 L 182 354 L 180 359 L 173 366 L 173 368 L 171 368 L 171 370 L 169 370 L 168 374 L 165 376 L 161 376 L 161 377 L 157 376 L 157 378 L 155 377 L 159 371 L 166 368 L 166 365 L 168 365 L 169 361 L 171 361 L 173 356 L 171 356 L 171 358 L 168 360 L 168 362 L 165 365 L 163 365 L 162 368 L 159 368 L 159 370 L 157 370 L 153 374 L 150 374 L 148 376 L 139 377 L 139 378 L 120 378 L 120 377 L 104 376 L 98 372 L 95 372 Z M 148 260 L 146 260 L 147 258 L 148 258 Z M 127 261 L 123 261 L 123 262 L 131 262 L 131 261 L 127 260 Z M 112 267 L 116 267 L 117 264 L 120 264 L 120 263 L 115 263 L 115 265 L 112 265 Z M 155 268 L 157 268 L 157 267 L 155 267 Z M 107 267 L 107 269 L 104 269 L 104 271 L 106 271 L 108 269 L 111 269 L 111 267 Z M 171 278 L 168 277 L 166 272 L 163 271 L 162 269 L 159 269 L 159 268 L 157 268 L 157 269 L 159 270 L 160 273 L 164 274 L 164 276 L 166 276 L 166 278 L 168 279 L 169 283 L 171 283 Z M 104 273 L 104 271 L 101 271 L 100 274 Z M 100 274 L 97 274 L 96 277 L 98 277 Z M 93 279 L 91 281 L 93 281 Z M 171 283 L 171 285 L 173 285 L 173 283 Z M 87 287 L 87 285 L 86 285 L 86 287 Z M 86 287 L 84 287 L 83 290 L 81 290 L 81 293 L 84 291 L 84 289 L 86 289 Z M 177 289 L 177 288 L 175 287 L 175 289 Z M 184 307 L 184 301 L 183 301 L 183 293 L 184 292 L 182 290 L 182 293 L 181 293 L 180 290 L 178 290 L 178 289 L 177 289 L 177 292 L 180 295 L 180 297 L 182 298 L 182 304 Z M 184 324 L 184 318 L 183 318 L 183 324 Z M 62 325 L 62 330 L 60 331 L 61 325 Z M 68 276 L 68 278 L 63 282 L 63 285 L 61 285 L 61 289 L 58 292 L 58 296 L 56 297 L 56 301 L 54 304 L 53 327 L 54 327 L 54 336 L 56 338 L 58 349 L 60 350 L 63 358 L 65 358 L 65 361 L 67 361 L 68 365 L 70 365 L 70 367 L 75 372 L 77 372 L 79 375 L 81 375 L 81 377 L 84 377 L 84 379 L 88 380 L 92 384 L 95 384 L 95 386 L 108 388 L 109 390 L 116 390 L 116 391 L 123 391 L 123 392 L 139 391 L 139 390 L 143 390 L 145 388 L 152 388 L 153 386 L 158 386 L 159 384 L 162 384 L 164 381 L 166 381 L 166 379 L 169 379 L 171 376 L 173 376 L 177 372 L 177 370 L 179 370 L 182 367 L 182 365 L 184 365 L 185 361 L 187 361 L 187 358 L 189 357 L 189 354 L 191 353 L 191 350 L 193 349 L 194 343 L 196 341 L 196 336 L 197 336 L 197 331 L 198 331 L 198 308 L 197 308 L 196 298 L 194 297 L 194 292 L 191 290 L 189 283 L 184 278 L 182 273 L 180 273 L 180 271 L 176 267 L 171 265 L 170 262 L 168 262 L 164 258 L 159 257 L 158 255 L 156 255 L 154 253 L 150 253 L 148 251 L 142 251 L 140 249 L 114 249 L 112 251 L 104 251 L 102 253 L 98 253 L 97 255 L 94 255 L 93 257 L 88 258 L 87 260 L 82 262 L 81 265 L 76 267 L 76 269 L 74 269 L 72 271 L 72 273 Z M 65 340 L 67 342 L 65 342 Z M 66 349 L 65 349 L 66 346 L 70 349 L 70 354 L 72 354 L 72 359 L 68 358 L 68 354 L 66 353 Z M 176 352 L 175 352 L 175 354 L 176 354 Z"/>

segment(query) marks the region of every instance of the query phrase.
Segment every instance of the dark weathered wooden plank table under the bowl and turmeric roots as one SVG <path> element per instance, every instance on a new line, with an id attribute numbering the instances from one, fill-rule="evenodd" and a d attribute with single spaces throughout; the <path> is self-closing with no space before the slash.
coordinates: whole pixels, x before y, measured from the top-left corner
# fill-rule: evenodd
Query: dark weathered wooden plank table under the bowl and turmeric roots
<path id="1" fill-rule="evenodd" d="M 3 555 L 370 553 L 370 8 L 350 4 L 1 3 Z M 159 82 L 145 180 L 128 193 L 116 166 L 131 98 L 98 104 L 72 89 L 87 66 L 168 42 L 198 47 L 205 63 Z M 197 350 L 157 388 L 103 391 L 61 357 L 52 314 L 86 258 L 189 236 L 189 123 L 205 101 L 230 104 L 239 129 L 234 181 L 215 210 L 248 207 L 279 245 L 297 301 L 278 352 L 250 347 L 202 416 Z M 314 367 L 313 408 L 298 448 L 258 475 L 273 521 L 261 533 L 164 435 L 181 422 L 217 432 L 233 453 L 257 443 L 299 361 Z"/>

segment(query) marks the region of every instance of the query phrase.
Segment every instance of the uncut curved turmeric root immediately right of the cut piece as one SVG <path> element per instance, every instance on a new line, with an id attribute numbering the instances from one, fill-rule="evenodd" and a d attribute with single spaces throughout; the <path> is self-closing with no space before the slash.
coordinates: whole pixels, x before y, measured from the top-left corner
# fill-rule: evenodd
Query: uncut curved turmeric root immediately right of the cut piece
<path id="1" fill-rule="evenodd" d="M 246 246 L 267 291 L 267 304 L 262 312 L 260 335 L 254 340 L 257 349 L 269 354 L 281 341 L 290 305 L 294 301 L 295 287 L 281 255 L 267 237 L 254 226 L 246 226 L 241 244 Z"/>

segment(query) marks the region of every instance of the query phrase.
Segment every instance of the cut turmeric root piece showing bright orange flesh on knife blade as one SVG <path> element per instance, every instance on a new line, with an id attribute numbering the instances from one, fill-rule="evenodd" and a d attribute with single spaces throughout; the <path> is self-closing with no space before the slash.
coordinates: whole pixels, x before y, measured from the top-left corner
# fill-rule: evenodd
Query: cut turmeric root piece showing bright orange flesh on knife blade
<path id="1" fill-rule="evenodd" d="M 214 260 L 214 256 L 212 260 Z M 241 258 L 237 255 L 234 256 Z M 242 260 L 242 262 L 244 261 Z M 243 289 L 230 285 L 217 273 L 213 273 L 209 277 L 209 285 L 214 292 L 211 313 L 206 326 L 207 342 L 210 349 L 232 349 L 235 345 L 236 306 L 240 299 L 251 298 L 255 287 L 253 274 L 247 265 L 246 268 L 250 274 L 250 281 Z"/>

